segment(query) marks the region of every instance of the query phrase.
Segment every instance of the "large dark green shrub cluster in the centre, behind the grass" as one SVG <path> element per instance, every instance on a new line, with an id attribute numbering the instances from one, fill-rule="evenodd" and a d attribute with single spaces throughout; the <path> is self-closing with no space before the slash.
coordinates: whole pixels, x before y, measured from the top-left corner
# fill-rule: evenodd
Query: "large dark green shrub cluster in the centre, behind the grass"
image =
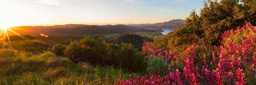
<path id="1" fill-rule="evenodd" d="M 144 56 L 134 48 L 134 45 L 106 44 L 102 37 L 94 40 L 86 36 L 80 42 L 71 42 L 64 51 L 64 56 L 76 63 L 113 65 L 128 71 L 143 71 L 145 68 Z"/>

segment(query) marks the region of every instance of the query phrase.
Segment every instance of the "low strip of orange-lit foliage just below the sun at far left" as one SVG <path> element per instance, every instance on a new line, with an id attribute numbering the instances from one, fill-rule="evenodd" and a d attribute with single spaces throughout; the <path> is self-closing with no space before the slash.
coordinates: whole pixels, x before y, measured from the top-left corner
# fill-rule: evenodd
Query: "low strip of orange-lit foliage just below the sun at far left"
<path id="1" fill-rule="evenodd" d="M 6 37 L 7 39 L 8 37 Z M 9 39 L 10 41 L 15 41 L 15 40 L 35 40 L 35 37 L 32 37 L 31 35 L 23 35 L 23 34 L 20 34 L 20 36 L 18 35 L 10 35 L 9 36 Z"/>

